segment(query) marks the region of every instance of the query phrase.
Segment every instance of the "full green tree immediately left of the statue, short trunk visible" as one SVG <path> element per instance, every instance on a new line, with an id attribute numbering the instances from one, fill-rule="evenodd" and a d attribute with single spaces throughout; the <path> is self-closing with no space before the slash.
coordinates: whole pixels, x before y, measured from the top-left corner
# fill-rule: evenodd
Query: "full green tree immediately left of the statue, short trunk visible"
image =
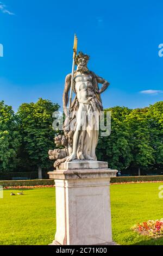
<path id="1" fill-rule="evenodd" d="M 39 99 L 36 103 L 23 103 L 17 112 L 22 133 L 23 154 L 32 165 L 38 168 L 39 178 L 42 168 L 50 168 L 52 162 L 48 159 L 48 150 L 54 148 L 55 132 L 52 129 L 54 111 L 59 105 L 49 100 Z"/>

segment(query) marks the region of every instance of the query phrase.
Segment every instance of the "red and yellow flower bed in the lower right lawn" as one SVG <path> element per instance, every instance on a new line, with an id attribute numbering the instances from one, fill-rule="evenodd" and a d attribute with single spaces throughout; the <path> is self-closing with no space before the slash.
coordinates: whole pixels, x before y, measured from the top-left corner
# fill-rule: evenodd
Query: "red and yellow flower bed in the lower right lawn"
<path id="1" fill-rule="evenodd" d="M 141 235 L 152 237 L 163 236 L 163 218 L 161 220 L 138 223 L 132 229 Z"/>

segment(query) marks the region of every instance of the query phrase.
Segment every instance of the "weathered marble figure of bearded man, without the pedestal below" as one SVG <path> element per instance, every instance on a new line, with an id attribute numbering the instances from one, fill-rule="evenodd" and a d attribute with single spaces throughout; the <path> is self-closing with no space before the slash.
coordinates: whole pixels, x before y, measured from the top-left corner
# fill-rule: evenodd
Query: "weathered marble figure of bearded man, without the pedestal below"
<path id="1" fill-rule="evenodd" d="M 76 159 L 97 160 L 95 150 L 98 143 L 99 115 L 103 111 L 101 93 L 108 88 L 109 82 L 87 68 L 89 59 L 87 54 L 79 52 L 74 57 L 77 70 L 66 76 L 63 94 L 66 114 L 64 135 L 55 137 L 57 147 L 62 145 L 65 148 L 49 150 L 49 159 L 57 160 L 54 167 Z M 101 89 L 98 83 L 102 84 Z M 67 111 L 70 90 L 70 108 Z M 72 90 L 76 96 L 71 103 Z"/>

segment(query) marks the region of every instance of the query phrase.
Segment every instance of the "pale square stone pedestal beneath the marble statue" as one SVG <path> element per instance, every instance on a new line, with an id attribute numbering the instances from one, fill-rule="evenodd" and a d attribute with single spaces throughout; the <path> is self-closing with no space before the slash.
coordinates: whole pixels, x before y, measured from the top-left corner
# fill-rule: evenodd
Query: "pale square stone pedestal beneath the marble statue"
<path id="1" fill-rule="evenodd" d="M 57 232 L 53 245 L 114 244 L 111 234 L 110 177 L 117 170 L 99 161 L 62 163 L 55 180 Z"/>

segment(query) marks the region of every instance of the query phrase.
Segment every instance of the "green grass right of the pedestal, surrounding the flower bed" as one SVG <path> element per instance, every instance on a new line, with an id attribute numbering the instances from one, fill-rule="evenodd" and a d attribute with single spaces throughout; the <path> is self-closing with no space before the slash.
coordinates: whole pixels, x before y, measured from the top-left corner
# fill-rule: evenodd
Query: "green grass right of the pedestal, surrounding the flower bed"
<path id="1" fill-rule="evenodd" d="M 163 237 L 151 239 L 130 230 L 134 224 L 163 217 L 163 199 L 158 189 L 163 183 L 111 186 L 113 239 L 120 245 L 163 245 Z"/>

